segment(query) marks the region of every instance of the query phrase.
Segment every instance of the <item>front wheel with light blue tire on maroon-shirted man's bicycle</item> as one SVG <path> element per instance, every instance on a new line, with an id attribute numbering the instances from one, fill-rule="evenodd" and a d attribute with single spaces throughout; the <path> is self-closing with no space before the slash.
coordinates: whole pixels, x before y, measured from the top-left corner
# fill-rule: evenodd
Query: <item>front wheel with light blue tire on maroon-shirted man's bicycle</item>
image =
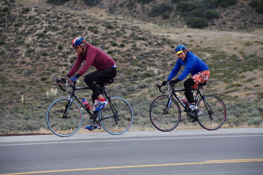
<path id="1" fill-rule="evenodd" d="M 57 98 L 51 102 L 46 111 L 46 123 L 49 129 L 60 137 L 75 134 L 82 123 L 82 111 L 74 100 L 72 100 L 67 117 L 62 118 L 63 113 L 67 110 L 68 102 L 66 97 Z"/>

